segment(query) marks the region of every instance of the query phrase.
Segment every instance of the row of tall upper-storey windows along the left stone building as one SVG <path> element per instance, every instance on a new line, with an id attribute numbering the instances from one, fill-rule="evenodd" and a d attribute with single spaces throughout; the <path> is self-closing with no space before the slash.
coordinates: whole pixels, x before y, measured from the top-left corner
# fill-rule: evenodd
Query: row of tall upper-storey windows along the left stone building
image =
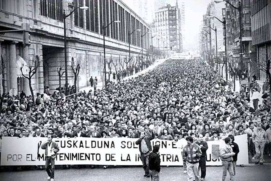
<path id="1" fill-rule="evenodd" d="M 1 0 L 0 0 L 1 1 Z M 3 0 L 2 0 L 3 1 Z M 89 9 L 74 11 L 74 25 L 86 28 L 96 33 L 129 43 L 129 31 L 141 29 L 145 34 L 148 29 L 128 11 L 114 0 L 73 0 L 75 7 L 88 6 Z M 63 21 L 62 0 L 40 0 L 40 14 L 58 21 Z M 85 17 L 85 19 L 84 19 Z M 119 20 L 120 23 L 111 23 Z M 110 24 L 103 30 L 103 25 Z M 100 28 L 100 31 L 99 31 Z M 140 32 L 131 35 L 131 44 L 141 46 Z M 147 46 L 148 37 L 143 37 L 144 46 Z"/>

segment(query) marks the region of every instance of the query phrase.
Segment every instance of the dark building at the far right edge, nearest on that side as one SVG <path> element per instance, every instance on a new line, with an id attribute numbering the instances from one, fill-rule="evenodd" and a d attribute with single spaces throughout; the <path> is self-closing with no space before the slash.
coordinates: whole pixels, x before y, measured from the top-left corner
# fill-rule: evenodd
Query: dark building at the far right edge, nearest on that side
<path id="1" fill-rule="evenodd" d="M 266 80 L 268 75 L 264 70 L 266 67 L 266 61 L 270 62 L 270 55 L 271 55 L 271 47 L 270 47 L 270 40 L 271 40 L 271 21 L 270 21 L 270 1 L 258 1 L 252 0 L 251 1 L 251 36 L 252 36 L 252 46 L 254 46 L 254 52 L 256 56 L 254 56 L 251 61 L 251 69 L 258 65 L 256 71 L 254 70 L 251 74 L 255 74 L 257 79 L 259 80 L 258 83 L 260 85 Z M 270 71 L 270 64 L 269 64 Z M 270 79 L 270 77 L 269 77 Z"/>

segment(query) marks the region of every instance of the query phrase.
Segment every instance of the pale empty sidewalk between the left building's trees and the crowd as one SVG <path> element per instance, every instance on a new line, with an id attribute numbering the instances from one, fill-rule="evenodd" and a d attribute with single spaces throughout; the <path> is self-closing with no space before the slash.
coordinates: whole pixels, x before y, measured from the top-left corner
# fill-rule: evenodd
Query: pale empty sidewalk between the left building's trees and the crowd
<path id="1" fill-rule="evenodd" d="M 158 59 L 154 62 L 154 64 L 150 65 L 148 68 L 145 68 L 144 70 L 136 73 L 136 74 L 133 74 L 133 75 L 130 75 L 130 76 L 127 76 L 127 77 L 124 77 L 122 80 L 127 80 L 127 79 L 130 79 L 130 78 L 135 78 L 139 75 L 143 75 L 145 74 L 146 72 L 150 71 L 150 70 L 153 70 L 157 65 L 160 65 L 162 64 L 166 59 Z M 98 82 L 97 84 L 97 90 L 98 89 L 102 89 L 103 88 L 103 82 Z M 87 87 L 82 87 L 79 89 L 79 91 L 86 91 L 86 92 L 89 92 L 89 90 L 93 90 L 94 91 L 94 88 L 91 87 L 91 86 L 87 86 Z"/>

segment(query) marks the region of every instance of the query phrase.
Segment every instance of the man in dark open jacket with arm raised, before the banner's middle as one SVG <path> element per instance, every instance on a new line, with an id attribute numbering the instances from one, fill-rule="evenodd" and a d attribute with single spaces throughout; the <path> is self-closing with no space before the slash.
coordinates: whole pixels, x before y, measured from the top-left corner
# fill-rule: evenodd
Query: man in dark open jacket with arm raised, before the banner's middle
<path id="1" fill-rule="evenodd" d="M 139 144 L 140 158 L 143 164 L 143 169 L 145 171 L 145 175 L 150 177 L 149 170 L 149 154 L 152 150 L 151 148 L 151 140 L 154 139 L 154 133 L 150 130 L 150 134 L 146 134 L 145 131 L 140 133 L 139 139 L 136 141 L 136 144 Z"/>

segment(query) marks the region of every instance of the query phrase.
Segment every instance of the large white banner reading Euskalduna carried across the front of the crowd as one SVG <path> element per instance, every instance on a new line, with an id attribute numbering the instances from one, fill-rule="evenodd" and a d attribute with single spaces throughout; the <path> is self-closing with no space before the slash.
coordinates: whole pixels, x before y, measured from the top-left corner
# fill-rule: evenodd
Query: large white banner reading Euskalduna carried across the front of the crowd
<path id="1" fill-rule="evenodd" d="M 1 165 L 44 165 L 45 150 L 41 144 L 47 138 L 2 138 Z M 136 138 L 54 138 L 60 151 L 56 165 L 142 165 Z M 237 164 L 248 164 L 247 135 L 235 136 L 239 145 Z M 152 140 L 152 145 L 160 145 L 161 165 L 182 166 L 182 149 L 175 141 Z M 207 141 L 206 165 L 221 165 L 219 148 L 225 142 Z"/>

